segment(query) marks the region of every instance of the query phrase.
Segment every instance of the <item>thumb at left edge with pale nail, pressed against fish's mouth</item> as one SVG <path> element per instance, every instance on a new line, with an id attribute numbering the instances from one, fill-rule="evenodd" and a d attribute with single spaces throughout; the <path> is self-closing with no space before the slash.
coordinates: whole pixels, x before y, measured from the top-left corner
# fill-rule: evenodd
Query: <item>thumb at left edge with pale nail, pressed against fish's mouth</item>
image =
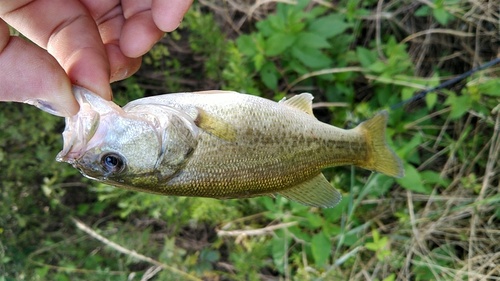
<path id="1" fill-rule="evenodd" d="M 2 20 L 0 73 L 0 101 L 29 103 L 58 116 L 77 113 L 71 82 L 57 61 L 42 48 L 11 37 Z"/>

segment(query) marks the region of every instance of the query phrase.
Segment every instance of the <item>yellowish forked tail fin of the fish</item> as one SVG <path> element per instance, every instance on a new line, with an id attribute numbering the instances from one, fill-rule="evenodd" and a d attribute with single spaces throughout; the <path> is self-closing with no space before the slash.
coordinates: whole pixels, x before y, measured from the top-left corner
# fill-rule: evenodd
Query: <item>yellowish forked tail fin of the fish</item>
<path id="1" fill-rule="evenodd" d="M 403 163 L 385 141 L 387 118 L 387 111 L 382 111 L 356 127 L 365 136 L 371 151 L 370 159 L 362 167 L 401 178 L 404 176 Z"/>

